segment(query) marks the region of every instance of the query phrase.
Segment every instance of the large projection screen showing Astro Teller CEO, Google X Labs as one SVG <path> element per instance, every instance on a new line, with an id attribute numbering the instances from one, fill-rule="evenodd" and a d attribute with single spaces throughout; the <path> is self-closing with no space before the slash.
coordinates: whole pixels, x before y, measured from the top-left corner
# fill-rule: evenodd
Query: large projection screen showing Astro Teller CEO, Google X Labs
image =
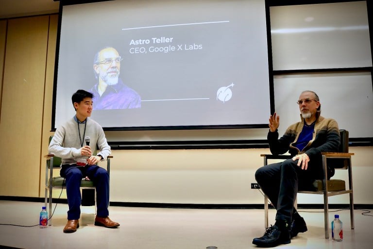
<path id="1" fill-rule="evenodd" d="M 268 127 L 265 1 L 61 3 L 54 128 L 78 89 L 108 130 Z"/>

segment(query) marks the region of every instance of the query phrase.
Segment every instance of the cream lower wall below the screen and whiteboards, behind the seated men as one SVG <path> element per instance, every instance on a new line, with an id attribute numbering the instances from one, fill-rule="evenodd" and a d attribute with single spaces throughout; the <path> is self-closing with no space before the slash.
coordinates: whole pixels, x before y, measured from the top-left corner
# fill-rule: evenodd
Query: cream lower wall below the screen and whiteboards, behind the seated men
<path id="1" fill-rule="evenodd" d="M 372 204 L 373 147 L 351 147 L 354 200 Z M 260 154 L 269 149 L 137 150 L 113 151 L 111 201 L 199 204 L 259 204 L 263 196 L 250 189 Z M 342 174 L 343 173 L 343 174 Z M 346 172 L 336 173 L 347 180 Z M 304 195 L 298 203 L 323 203 L 322 196 Z M 348 195 L 329 203 L 349 203 Z"/>

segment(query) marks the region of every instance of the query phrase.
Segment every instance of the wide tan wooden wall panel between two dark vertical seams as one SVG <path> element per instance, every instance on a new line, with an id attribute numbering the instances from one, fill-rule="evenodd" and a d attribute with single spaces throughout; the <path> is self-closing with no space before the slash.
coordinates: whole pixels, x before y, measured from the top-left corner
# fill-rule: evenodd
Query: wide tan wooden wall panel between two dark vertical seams
<path id="1" fill-rule="evenodd" d="M 8 20 L 0 196 L 38 196 L 49 16 Z"/>

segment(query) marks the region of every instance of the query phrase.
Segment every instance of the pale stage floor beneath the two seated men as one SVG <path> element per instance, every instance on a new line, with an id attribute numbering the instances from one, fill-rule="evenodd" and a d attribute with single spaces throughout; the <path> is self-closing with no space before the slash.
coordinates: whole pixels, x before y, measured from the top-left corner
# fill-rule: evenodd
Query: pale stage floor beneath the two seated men
<path id="1" fill-rule="evenodd" d="M 30 226 L 38 224 L 42 203 L 0 201 L 0 223 Z M 54 205 L 53 205 L 54 207 Z M 110 207 L 110 217 L 120 223 L 118 229 L 94 226 L 94 207 L 82 207 L 80 228 L 63 233 L 66 204 L 58 204 L 52 225 L 16 227 L 0 225 L 0 245 L 22 248 L 121 248 L 121 249 L 247 249 L 256 248 L 254 237 L 263 235 L 264 210 L 252 209 L 163 209 Z M 308 231 L 300 233 L 291 244 L 278 248 L 373 248 L 373 216 L 355 210 L 355 230 L 350 228 L 349 211 L 339 214 L 343 221 L 342 242 L 324 238 L 322 210 L 300 210 Z M 369 213 L 373 215 L 373 213 Z M 270 210 L 273 223 L 274 210 Z M 1 247 L 1 246 L 0 246 Z"/>

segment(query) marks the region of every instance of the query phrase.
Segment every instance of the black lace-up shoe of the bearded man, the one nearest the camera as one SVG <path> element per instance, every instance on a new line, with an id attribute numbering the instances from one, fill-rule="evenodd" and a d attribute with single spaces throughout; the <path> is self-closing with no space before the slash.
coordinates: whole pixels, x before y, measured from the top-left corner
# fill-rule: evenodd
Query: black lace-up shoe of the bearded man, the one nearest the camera
<path id="1" fill-rule="evenodd" d="M 262 237 L 254 238 L 253 244 L 258 247 L 275 247 L 280 244 L 289 244 L 290 234 L 288 224 L 285 221 L 276 221 L 271 227 L 266 229 Z"/>

